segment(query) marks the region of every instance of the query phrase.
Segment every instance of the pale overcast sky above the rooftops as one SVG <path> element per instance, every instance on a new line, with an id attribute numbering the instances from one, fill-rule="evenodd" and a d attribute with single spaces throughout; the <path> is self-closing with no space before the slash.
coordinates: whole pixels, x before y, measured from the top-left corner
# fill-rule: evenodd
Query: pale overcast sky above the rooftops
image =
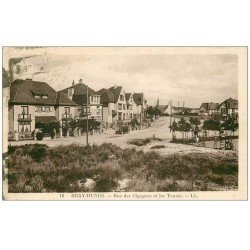
<path id="1" fill-rule="evenodd" d="M 126 92 L 144 92 L 149 104 L 173 99 L 173 105 L 199 107 L 202 102 L 222 102 L 238 95 L 238 57 L 235 54 L 127 53 L 126 48 L 5 48 L 3 66 L 10 58 L 33 56 L 32 79 L 56 90 L 80 78 L 94 90 L 122 85 Z M 93 52 L 94 51 L 94 52 Z M 115 52 L 114 52 L 115 51 Z M 138 51 L 138 53 L 137 53 Z M 40 72 L 40 68 L 42 72 Z M 22 77 L 22 76 L 20 76 Z"/>

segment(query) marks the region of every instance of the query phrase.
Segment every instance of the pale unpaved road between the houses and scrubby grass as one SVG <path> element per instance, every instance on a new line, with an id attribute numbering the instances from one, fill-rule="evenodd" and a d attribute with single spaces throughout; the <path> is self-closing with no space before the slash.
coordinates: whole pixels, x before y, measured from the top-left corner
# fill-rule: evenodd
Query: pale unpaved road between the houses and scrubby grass
<path id="1" fill-rule="evenodd" d="M 154 121 L 149 128 L 145 128 L 138 131 L 131 131 L 129 134 L 124 135 L 116 135 L 115 131 L 109 129 L 104 131 L 102 134 L 94 134 L 89 135 L 89 144 L 93 145 L 100 145 L 102 143 L 112 143 L 121 148 L 128 148 L 128 147 L 136 147 L 138 149 L 142 149 L 144 151 L 152 150 L 151 147 L 155 145 L 163 145 L 165 148 L 161 149 L 153 149 L 161 154 L 173 154 L 173 153 L 191 153 L 191 152 L 207 152 L 207 153 L 216 153 L 216 154 L 228 154 L 228 153 L 235 153 L 233 151 L 221 151 L 216 150 L 213 148 L 204 148 L 204 147 L 197 147 L 192 145 L 184 145 L 184 144 L 175 144 L 170 143 L 172 134 L 169 130 L 169 117 L 162 117 L 158 120 Z M 132 139 L 142 139 L 153 137 L 153 135 L 157 138 L 162 139 L 162 141 L 152 141 L 151 143 L 137 147 L 134 145 L 130 145 L 127 142 Z M 68 138 L 56 138 L 52 139 L 44 139 L 43 141 L 19 141 L 19 142 L 10 142 L 9 144 L 14 145 L 25 145 L 25 144 L 47 144 L 49 147 L 56 147 L 59 145 L 69 145 L 69 144 L 78 144 L 78 145 L 86 145 L 86 135 L 79 136 L 79 137 L 68 137 Z"/>

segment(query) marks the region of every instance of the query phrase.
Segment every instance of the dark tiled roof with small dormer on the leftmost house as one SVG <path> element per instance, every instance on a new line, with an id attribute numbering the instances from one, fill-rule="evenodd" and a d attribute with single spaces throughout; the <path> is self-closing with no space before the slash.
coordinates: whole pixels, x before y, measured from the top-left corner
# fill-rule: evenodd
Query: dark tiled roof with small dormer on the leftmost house
<path id="1" fill-rule="evenodd" d="M 40 96 L 35 98 L 35 95 Z M 47 98 L 43 98 L 46 96 Z M 57 93 L 49 84 L 32 80 L 15 80 L 10 87 L 10 103 L 40 105 L 76 105 L 67 96 Z"/>

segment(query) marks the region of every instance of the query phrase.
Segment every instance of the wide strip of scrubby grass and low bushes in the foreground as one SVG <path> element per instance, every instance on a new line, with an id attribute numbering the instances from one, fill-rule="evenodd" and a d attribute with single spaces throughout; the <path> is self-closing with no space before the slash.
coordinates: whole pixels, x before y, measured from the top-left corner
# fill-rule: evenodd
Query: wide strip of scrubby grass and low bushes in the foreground
<path id="1" fill-rule="evenodd" d="M 108 192 L 232 190 L 238 187 L 237 156 L 101 146 L 10 147 L 9 192 Z M 126 182 L 124 181 L 126 180 Z M 127 183 L 121 187 L 121 183 Z M 88 184 L 88 185 L 87 185 Z"/>

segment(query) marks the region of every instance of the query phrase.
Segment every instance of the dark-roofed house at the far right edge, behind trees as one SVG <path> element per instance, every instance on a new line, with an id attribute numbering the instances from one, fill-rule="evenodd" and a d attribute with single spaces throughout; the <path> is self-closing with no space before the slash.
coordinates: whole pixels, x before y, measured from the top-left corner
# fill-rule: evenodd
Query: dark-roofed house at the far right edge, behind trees
<path id="1" fill-rule="evenodd" d="M 216 110 L 224 117 L 224 119 L 230 116 L 237 116 L 238 114 L 238 100 L 228 98 L 221 104 L 219 104 Z"/>

